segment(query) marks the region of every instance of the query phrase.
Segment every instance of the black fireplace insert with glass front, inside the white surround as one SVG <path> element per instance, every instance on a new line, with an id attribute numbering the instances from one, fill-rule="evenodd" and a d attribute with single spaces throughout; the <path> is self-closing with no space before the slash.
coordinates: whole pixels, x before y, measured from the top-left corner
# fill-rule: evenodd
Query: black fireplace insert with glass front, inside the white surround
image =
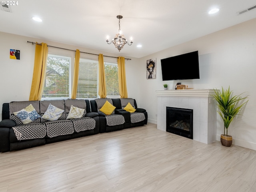
<path id="1" fill-rule="evenodd" d="M 166 107 L 166 131 L 193 139 L 193 109 Z"/>

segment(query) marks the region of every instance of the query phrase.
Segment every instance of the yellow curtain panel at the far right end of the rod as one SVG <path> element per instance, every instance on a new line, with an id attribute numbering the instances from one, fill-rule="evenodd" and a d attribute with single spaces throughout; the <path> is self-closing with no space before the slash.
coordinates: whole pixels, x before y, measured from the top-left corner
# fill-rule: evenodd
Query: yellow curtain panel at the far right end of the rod
<path id="1" fill-rule="evenodd" d="M 118 85 L 119 85 L 120 98 L 128 98 L 124 57 L 118 57 L 117 66 L 118 66 Z"/>

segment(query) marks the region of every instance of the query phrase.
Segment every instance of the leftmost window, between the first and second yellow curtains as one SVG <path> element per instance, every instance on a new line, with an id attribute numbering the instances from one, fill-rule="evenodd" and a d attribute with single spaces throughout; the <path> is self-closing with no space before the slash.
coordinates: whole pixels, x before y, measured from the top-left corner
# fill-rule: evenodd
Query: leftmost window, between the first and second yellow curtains
<path id="1" fill-rule="evenodd" d="M 70 98 L 71 58 L 48 54 L 42 98 Z"/>

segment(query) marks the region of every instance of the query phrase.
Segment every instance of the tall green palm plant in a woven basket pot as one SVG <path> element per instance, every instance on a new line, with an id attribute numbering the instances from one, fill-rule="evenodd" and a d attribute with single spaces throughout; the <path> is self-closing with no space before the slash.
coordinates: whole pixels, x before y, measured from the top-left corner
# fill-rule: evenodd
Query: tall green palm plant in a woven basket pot
<path id="1" fill-rule="evenodd" d="M 224 134 L 220 136 L 220 141 L 223 146 L 230 147 L 232 144 L 232 136 L 228 135 L 228 127 L 234 117 L 237 114 L 240 114 L 243 106 L 248 102 L 243 102 L 247 97 L 242 97 L 240 95 L 232 96 L 233 91 L 230 91 L 230 87 L 228 90 L 224 90 L 222 87 L 222 91 L 214 89 L 215 95 L 213 95 L 214 99 L 217 101 L 218 113 L 220 114 L 223 122 L 224 122 Z"/>

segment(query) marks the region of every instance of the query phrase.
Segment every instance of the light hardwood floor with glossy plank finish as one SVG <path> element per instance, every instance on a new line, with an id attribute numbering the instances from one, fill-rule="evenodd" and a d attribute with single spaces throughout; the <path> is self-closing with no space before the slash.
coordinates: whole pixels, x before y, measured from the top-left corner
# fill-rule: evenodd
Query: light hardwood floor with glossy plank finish
<path id="1" fill-rule="evenodd" d="M 0 153 L 0 192 L 256 192 L 256 151 L 155 124 Z"/>

